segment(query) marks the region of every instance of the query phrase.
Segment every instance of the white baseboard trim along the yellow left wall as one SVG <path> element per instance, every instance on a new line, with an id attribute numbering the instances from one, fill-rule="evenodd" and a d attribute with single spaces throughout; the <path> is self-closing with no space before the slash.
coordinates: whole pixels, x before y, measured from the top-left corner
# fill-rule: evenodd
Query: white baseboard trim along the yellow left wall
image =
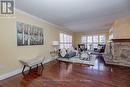
<path id="1" fill-rule="evenodd" d="M 45 63 L 49 63 L 49 62 L 54 61 L 54 60 L 55 60 L 55 59 L 50 58 L 50 59 L 46 60 L 46 61 L 44 62 L 44 64 L 45 64 Z M 26 68 L 25 71 L 27 71 L 27 70 L 28 70 L 28 69 Z M 12 77 L 12 76 L 15 76 L 15 75 L 17 75 L 17 74 L 20 74 L 21 72 L 22 72 L 22 68 L 19 68 L 19 69 L 16 69 L 16 70 L 11 71 L 11 72 L 9 72 L 9 73 L 3 74 L 3 75 L 0 76 L 0 81 L 1 81 L 1 80 L 4 80 L 4 79 L 7 79 L 7 78 L 10 78 L 10 77 Z"/>

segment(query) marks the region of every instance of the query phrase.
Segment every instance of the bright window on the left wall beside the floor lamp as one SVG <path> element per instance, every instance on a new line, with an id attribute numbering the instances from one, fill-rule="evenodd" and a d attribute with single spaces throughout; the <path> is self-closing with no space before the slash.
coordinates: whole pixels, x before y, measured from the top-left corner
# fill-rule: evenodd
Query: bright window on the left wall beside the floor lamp
<path id="1" fill-rule="evenodd" d="M 72 36 L 60 33 L 60 49 L 72 47 Z"/>

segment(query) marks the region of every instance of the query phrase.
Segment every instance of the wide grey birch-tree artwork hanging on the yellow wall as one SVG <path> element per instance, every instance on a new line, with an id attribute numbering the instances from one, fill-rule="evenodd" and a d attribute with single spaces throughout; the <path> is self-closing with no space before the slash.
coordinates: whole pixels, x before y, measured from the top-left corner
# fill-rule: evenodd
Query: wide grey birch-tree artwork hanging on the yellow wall
<path id="1" fill-rule="evenodd" d="M 34 25 L 16 22 L 17 46 L 43 45 L 43 29 Z"/>

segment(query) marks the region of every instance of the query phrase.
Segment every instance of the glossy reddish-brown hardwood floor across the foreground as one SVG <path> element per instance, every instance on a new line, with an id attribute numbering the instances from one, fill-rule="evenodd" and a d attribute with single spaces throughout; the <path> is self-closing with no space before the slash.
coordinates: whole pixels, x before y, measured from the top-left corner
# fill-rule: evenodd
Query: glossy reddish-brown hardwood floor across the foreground
<path id="1" fill-rule="evenodd" d="M 130 87 L 130 68 L 105 65 L 97 59 L 95 66 L 57 61 L 0 82 L 0 87 Z"/>

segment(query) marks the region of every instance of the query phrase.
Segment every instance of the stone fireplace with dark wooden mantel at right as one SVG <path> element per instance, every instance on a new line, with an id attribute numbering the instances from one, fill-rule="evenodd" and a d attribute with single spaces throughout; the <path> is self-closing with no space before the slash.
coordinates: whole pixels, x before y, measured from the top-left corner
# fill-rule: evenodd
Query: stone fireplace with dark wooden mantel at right
<path id="1" fill-rule="evenodd" d="M 106 63 L 130 67 L 129 39 L 114 39 L 109 43 L 107 50 L 110 50 L 110 52 L 104 55 Z"/>

